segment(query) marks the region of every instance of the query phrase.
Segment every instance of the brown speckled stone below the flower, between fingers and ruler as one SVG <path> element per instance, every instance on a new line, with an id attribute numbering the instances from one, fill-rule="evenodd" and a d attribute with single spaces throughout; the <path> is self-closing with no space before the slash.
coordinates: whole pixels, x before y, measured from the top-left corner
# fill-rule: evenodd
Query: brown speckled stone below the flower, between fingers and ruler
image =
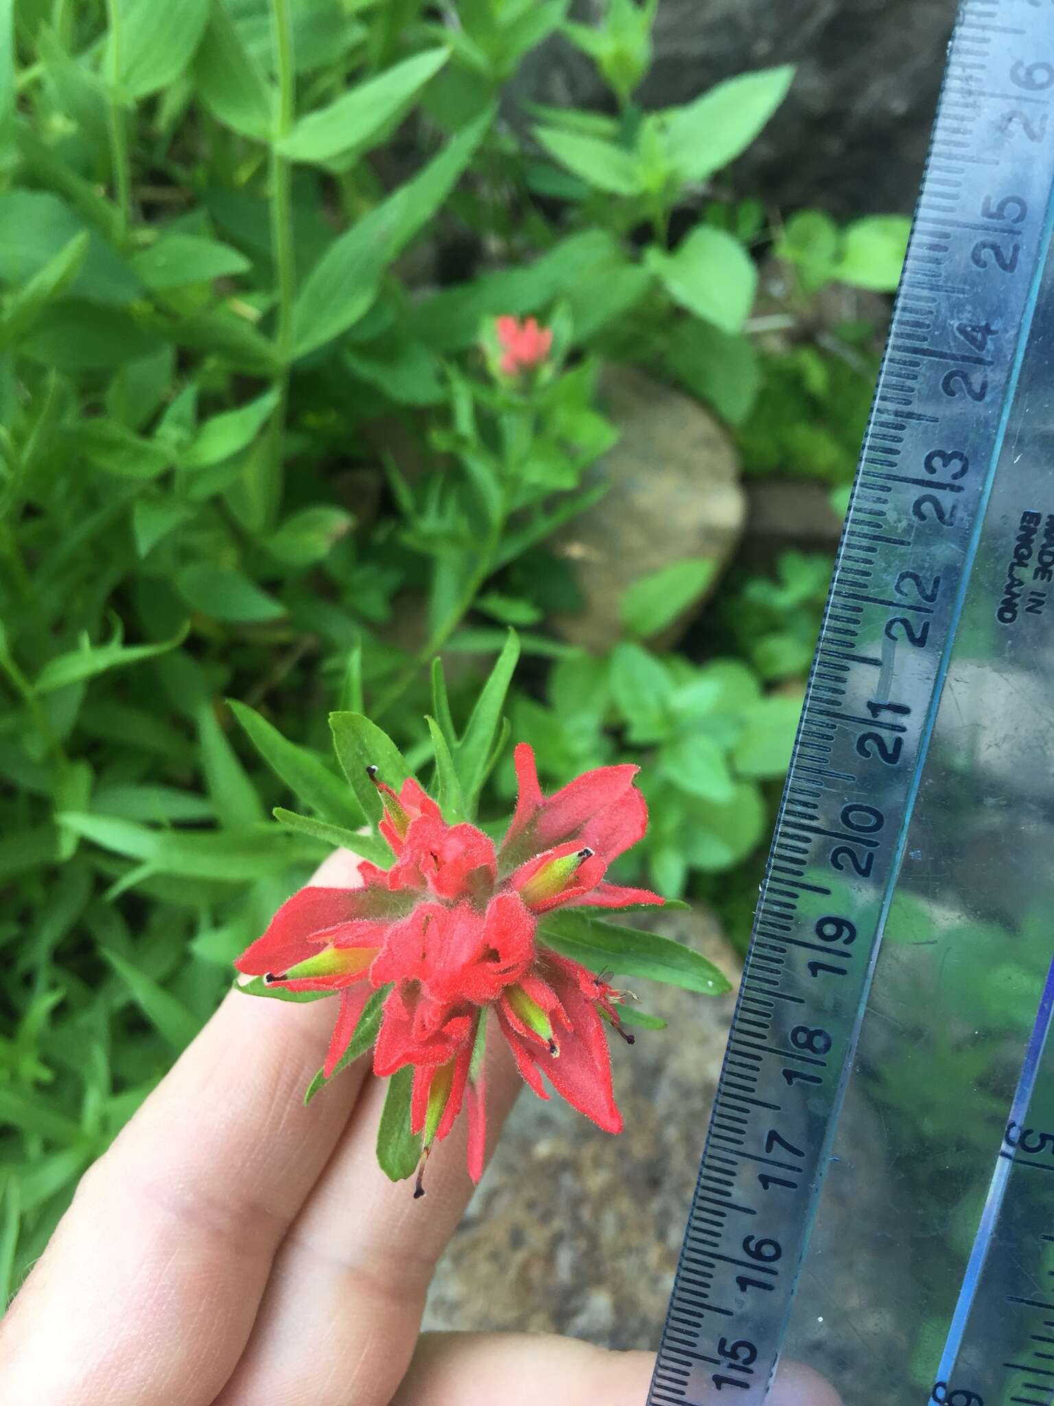
<path id="1" fill-rule="evenodd" d="M 738 959 L 705 912 L 665 915 L 662 931 L 736 977 Z M 625 1132 L 611 1137 L 562 1099 L 524 1091 L 440 1263 L 426 1327 L 658 1343 L 732 995 L 645 981 L 638 994 L 669 1026 L 638 1031 L 632 1049 L 613 1040 Z"/>

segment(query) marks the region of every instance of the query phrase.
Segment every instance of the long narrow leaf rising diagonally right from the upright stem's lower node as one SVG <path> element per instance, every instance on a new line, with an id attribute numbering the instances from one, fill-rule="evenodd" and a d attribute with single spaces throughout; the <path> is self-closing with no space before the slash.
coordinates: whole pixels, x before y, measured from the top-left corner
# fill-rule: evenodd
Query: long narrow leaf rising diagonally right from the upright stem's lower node
<path id="1" fill-rule="evenodd" d="M 347 332 L 370 311 L 385 269 L 444 204 L 492 120 L 488 108 L 413 180 L 333 240 L 297 298 L 298 357 Z"/>

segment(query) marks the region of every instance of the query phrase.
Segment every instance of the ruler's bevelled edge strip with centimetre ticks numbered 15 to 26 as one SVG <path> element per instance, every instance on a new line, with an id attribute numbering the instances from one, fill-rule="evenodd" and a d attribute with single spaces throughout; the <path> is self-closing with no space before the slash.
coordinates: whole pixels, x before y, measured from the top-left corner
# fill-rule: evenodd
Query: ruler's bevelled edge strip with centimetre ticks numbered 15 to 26
<path id="1" fill-rule="evenodd" d="M 1050 243 L 1051 105 L 1054 6 L 964 0 L 649 1406 L 760 1406 L 776 1371 Z"/>

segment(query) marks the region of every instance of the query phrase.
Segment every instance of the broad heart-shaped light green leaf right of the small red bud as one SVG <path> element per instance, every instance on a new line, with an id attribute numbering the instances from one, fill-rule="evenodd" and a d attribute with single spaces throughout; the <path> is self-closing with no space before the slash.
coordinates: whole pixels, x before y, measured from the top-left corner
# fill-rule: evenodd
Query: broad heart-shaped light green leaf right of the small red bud
<path id="1" fill-rule="evenodd" d="M 738 239 L 697 225 L 675 253 L 651 247 L 646 259 L 683 308 L 722 332 L 739 332 L 753 304 L 757 270 Z"/>

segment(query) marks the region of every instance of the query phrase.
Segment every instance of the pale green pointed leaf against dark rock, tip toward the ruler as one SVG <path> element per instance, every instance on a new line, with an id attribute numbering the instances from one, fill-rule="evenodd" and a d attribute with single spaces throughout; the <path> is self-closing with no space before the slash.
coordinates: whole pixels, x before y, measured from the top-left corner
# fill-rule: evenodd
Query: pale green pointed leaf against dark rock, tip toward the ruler
<path id="1" fill-rule="evenodd" d="M 665 115 L 665 149 L 682 181 L 705 180 L 757 136 L 787 94 L 794 69 L 742 73 Z"/>

